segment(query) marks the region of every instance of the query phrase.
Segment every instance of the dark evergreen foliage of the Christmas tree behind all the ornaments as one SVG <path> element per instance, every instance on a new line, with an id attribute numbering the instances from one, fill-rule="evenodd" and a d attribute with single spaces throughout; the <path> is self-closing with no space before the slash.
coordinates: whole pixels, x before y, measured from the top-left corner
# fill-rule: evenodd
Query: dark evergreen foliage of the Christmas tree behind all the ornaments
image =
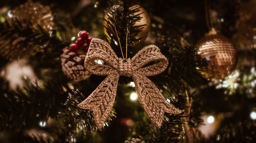
<path id="1" fill-rule="evenodd" d="M 0 7 L 12 9 L 24 2 L 4 0 Z M 248 120 L 248 113 L 255 108 L 255 88 L 252 84 L 255 75 L 252 67 L 255 67 L 256 52 L 254 49 L 239 50 L 239 88 L 232 95 L 227 97 L 223 89 L 207 86 L 209 82 L 200 74 L 206 63 L 194 46 L 185 42 L 188 40 L 195 44 L 207 32 L 203 1 L 40 2 L 50 6 L 53 12 L 56 29 L 50 33 L 35 23 L 24 24 L 18 19 L 0 23 L 0 69 L 5 69 L 11 60 L 27 58 L 43 83 L 39 85 L 33 82 L 24 88 L 11 90 L 6 78 L 0 77 L 2 142 L 65 142 L 72 136 L 77 142 L 123 142 L 136 137 L 146 142 L 197 143 L 189 140 L 191 130 L 193 138 L 201 139 L 199 142 L 255 142 L 255 123 L 241 121 Z M 217 13 L 213 21 L 219 22 L 214 25 L 221 27 L 224 35 L 231 37 L 236 33 L 237 8 L 242 2 L 245 1 L 212 2 Z M 109 3 L 108 8 L 106 3 Z M 134 26 L 142 18 L 138 4 L 146 9 L 152 23 L 149 40 L 144 44 L 157 45 L 169 61 L 165 72 L 150 78 L 170 103 L 183 112 L 180 115 L 166 114 L 162 127 L 156 129 L 139 102 L 130 100 L 131 92 L 135 92 L 127 85 L 131 79 L 120 77 L 115 105 L 106 122 L 108 126 L 98 131 L 92 112 L 77 108 L 77 104 L 86 99 L 104 77 L 91 75 L 84 81 L 71 81 L 62 73 L 59 56 L 62 49 L 72 43 L 71 38 L 77 37 L 78 31 L 86 30 L 96 37 L 106 34 L 105 40 L 109 40 L 121 57 L 115 27 L 123 51 L 128 27 L 128 56 L 132 57 L 139 50 L 132 47 L 132 43 L 140 40 L 136 36 L 145 26 Z M 4 15 L 2 9 L 0 15 Z M 220 18 L 224 22 L 220 22 Z M 202 124 L 202 111 L 231 116 L 223 119 L 216 134 L 205 140 L 200 132 L 194 132 Z M 127 126 L 126 120 L 132 121 L 133 125 Z M 51 124 L 43 128 L 38 125 L 41 121 Z M 44 132 L 47 136 L 31 135 L 28 133 L 31 130 Z"/>

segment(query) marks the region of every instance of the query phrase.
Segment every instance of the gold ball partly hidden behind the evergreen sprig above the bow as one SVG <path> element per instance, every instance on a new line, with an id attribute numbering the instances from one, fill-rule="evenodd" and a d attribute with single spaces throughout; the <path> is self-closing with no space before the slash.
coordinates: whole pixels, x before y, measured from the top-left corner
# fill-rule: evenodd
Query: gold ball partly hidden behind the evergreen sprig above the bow
<path id="1" fill-rule="evenodd" d="M 114 5 L 111 9 L 115 10 L 116 7 L 118 6 Z M 135 36 L 136 39 L 139 39 L 139 38 L 141 39 L 139 41 L 135 41 L 134 43 L 131 43 L 130 44 L 131 46 L 136 46 L 143 43 L 150 33 L 150 25 L 151 25 L 150 16 L 148 16 L 146 10 L 142 8 L 140 5 L 135 5 L 129 9 L 134 9 L 136 7 L 139 8 L 139 11 L 134 13 L 134 15 L 140 14 L 139 16 L 141 17 L 141 19 L 139 21 L 136 21 L 133 26 L 139 26 L 139 25 L 144 25 L 144 26 L 141 28 L 140 32 Z M 109 17 L 113 17 L 113 16 L 105 14 L 105 19 L 109 19 Z M 108 40 L 110 41 L 111 36 L 106 32 L 106 28 L 105 28 L 106 24 L 107 23 L 104 21 L 103 22 L 104 34 L 106 35 L 106 38 L 108 38 Z M 125 26 L 123 28 L 125 28 Z"/>

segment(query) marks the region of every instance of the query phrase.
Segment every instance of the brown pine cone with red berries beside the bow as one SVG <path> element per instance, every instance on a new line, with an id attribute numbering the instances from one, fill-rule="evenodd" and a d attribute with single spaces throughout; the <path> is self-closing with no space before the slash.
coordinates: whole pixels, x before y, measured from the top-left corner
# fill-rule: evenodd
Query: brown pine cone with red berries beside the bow
<path id="1" fill-rule="evenodd" d="M 81 81 L 90 77 L 89 72 L 84 68 L 84 60 L 91 39 L 86 31 L 81 31 L 76 43 L 63 49 L 63 53 L 60 55 L 62 71 L 70 79 Z"/>

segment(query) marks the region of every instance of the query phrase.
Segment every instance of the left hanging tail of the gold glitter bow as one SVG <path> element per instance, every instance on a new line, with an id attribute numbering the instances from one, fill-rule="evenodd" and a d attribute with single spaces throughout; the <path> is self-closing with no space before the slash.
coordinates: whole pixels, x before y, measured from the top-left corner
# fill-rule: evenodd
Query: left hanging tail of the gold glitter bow
<path id="1" fill-rule="evenodd" d="M 79 108 L 93 111 L 93 118 L 98 129 L 102 129 L 114 105 L 118 79 L 118 73 L 108 75 L 86 100 L 77 105 Z"/>

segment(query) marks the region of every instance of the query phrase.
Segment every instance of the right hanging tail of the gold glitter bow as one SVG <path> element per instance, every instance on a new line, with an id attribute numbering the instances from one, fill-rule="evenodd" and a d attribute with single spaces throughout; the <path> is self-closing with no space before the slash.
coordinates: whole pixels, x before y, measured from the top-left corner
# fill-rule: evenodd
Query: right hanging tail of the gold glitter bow
<path id="1" fill-rule="evenodd" d="M 146 115 L 155 126 L 158 128 L 161 127 L 164 112 L 172 114 L 181 113 L 181 110 L 166 101 L 156 85 L 146 76 L 134 74 L 133 80 L 135 82 L 139 102 L 146 112 Z"/>

